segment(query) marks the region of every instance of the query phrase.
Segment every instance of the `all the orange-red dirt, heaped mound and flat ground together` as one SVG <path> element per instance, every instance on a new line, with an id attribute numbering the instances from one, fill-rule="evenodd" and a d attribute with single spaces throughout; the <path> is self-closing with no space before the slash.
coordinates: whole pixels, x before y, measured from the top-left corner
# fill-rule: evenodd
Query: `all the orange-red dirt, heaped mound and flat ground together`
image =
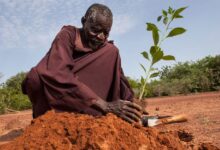
<path id="1" fill-rule="evenodd" d="M 3 115 L 0 128 L 11 132 L 0 133 L 0 144 L 22 135 L 0 149 L 218 149 L 213 145 L 220 144 L 219 100 L 220 92 L 148 99 L 150 115 L 184 113 L 189 117 L 186 123 L 155 128 L 132 126 L 112 114 L 94 118 L 49 112 L 32 121 L 22 134 L 20 128 L 30 123 L 30 112 L 23 115 L 26 125 L 19 129 L 7 126 L 15 118 L 21 121 L 20 115 Z"/>

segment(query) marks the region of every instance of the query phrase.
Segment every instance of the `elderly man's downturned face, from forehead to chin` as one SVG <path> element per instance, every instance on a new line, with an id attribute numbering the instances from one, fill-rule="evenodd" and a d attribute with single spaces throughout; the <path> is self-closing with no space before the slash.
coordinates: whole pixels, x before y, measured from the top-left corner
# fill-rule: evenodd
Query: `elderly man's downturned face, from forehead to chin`
<path id="1" fill-rule="evenodd" d="M 83 29 L 88 46 L 94 50 L 102 46 L 109 36 L 111 25 L 111 19 L 100 14 L 95 19 L 86 19 Z"/>

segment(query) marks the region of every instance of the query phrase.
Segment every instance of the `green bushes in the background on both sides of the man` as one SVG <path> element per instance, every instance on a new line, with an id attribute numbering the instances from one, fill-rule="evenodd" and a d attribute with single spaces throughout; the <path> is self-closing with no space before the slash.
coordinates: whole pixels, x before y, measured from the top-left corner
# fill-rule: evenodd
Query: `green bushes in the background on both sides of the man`
<path id="1" fill-rule="evenodd" d="M 28 97 L 22 94 L 21 83 L 25 72 L 16 74 L 0 85 L 0 114 L 31 108 Z M 0 78 L 3 75 L 0 73 Z M 141 84 L 139 79 L 128 77 L 136 97 Z M 196 62 L 181 62 L 165 66 L 158 79 L 146 87 L 144 97 L 173 96 L 220 90 L 220 55 L 207 56 Z"/>

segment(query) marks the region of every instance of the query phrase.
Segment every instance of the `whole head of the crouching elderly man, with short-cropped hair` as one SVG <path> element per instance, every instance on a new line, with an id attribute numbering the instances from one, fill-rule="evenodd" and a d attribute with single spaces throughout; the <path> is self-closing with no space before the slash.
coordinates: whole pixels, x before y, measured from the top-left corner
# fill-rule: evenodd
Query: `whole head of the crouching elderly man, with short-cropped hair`
<path id="1" fill-rule="evenodd" d="M 82 17 L 83 32 L 89 47 L 96 50 L 108 38 L 112 26 L 112 12 L 102 4 L 93 4 Z"/>

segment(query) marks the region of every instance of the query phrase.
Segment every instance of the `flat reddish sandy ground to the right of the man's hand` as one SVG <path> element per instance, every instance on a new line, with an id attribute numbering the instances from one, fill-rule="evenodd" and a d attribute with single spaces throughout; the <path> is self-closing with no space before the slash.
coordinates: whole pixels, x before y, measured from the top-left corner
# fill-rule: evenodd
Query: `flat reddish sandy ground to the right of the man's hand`
<path id="1" fill-rule="evenodd" d="M 220 92 L 148 99 L 150 115 L 185 114 L 188 121 L 163 126 L 185 130 L 195 143 L 210 142 L 220 148 Z M 160 127 L 158 127 L 160 128 Z"/>

